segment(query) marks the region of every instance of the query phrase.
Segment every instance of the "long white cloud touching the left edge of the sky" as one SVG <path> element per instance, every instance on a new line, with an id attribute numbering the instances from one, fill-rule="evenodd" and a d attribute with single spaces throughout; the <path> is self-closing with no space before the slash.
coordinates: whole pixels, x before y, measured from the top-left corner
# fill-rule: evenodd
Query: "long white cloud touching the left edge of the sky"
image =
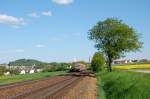
<path id="1" fill-rule="evenodd" d="M 0 14 L 0 23 L 7 24 L 13 27 L 18 27 L 19 25 L 26 24 L 26 21 L 23 18 Z"/>

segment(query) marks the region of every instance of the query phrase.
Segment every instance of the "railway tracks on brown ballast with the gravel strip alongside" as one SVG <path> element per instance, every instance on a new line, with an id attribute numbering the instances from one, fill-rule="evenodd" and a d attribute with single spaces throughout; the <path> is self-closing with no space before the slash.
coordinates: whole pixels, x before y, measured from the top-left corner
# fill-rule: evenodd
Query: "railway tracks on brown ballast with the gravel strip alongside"
<path id="1" fill-rule="evenodd" d="M 0 86 L 0 99 L 78 99 L 79 97 L 97 99 L 95 78 L 71 73 Z"/>

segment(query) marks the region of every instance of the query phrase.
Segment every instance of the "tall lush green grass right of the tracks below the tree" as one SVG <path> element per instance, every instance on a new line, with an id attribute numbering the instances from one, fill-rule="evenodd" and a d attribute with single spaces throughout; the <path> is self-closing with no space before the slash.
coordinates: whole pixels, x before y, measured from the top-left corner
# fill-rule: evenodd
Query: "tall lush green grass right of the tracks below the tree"
<path id="1" fill-rule="evenodd" d="M 96 75 L 106 99 L 150 99 L 150 74 L 115 71 Z"/>

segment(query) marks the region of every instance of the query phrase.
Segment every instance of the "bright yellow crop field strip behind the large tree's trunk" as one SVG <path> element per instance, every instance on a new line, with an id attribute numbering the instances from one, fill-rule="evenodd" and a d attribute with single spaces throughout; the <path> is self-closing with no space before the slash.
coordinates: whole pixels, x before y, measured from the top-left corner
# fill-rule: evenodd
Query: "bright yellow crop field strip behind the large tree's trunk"
<path id="1" fill-rule="evenodd" d="M 113 69 L 150 69 L 150 64 L 137 64 L 137 65 L 120 65 L 120 66 L 112 66 Z"/>

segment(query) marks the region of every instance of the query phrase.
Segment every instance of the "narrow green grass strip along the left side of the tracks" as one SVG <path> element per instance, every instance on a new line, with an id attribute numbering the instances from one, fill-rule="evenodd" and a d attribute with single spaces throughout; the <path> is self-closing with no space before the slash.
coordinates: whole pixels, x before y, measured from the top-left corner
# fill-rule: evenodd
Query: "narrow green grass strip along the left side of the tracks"
<path id="1" fill-rule="evenodd" d="M 41 72 L 25 75 L 0 76 L 0 85 L 66 74 L 67 71 Z"/>

